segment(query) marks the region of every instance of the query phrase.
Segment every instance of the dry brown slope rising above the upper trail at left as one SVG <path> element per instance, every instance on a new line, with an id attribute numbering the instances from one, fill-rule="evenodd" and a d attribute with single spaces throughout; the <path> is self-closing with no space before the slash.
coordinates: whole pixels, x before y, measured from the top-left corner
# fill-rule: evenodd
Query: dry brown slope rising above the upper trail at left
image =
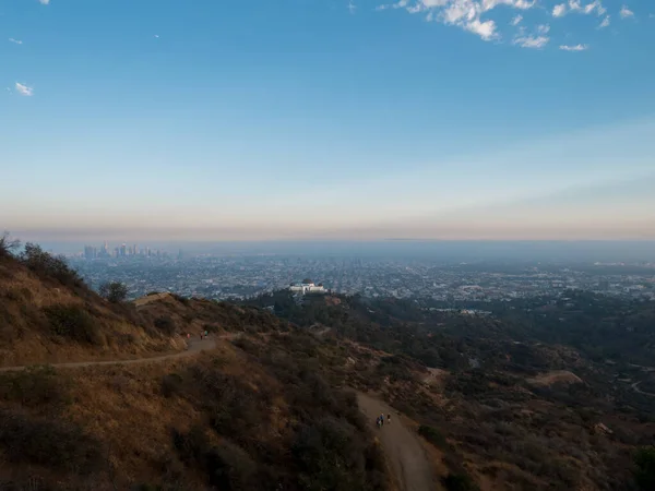
<path id="1" fill-rule="evenodd" d="M 22 261 L 0 256 L 0 367 L 184 348 L 132 306 L 105 301 L 40 250 Z"/>

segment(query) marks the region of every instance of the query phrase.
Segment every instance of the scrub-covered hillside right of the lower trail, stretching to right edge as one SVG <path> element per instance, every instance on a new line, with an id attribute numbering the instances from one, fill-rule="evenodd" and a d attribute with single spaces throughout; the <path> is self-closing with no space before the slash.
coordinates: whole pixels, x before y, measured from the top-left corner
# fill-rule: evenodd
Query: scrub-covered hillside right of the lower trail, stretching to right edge
<path id="1" fill-rule="evenodd" d="M 630 360 L 653 352 L 643 340 L 655 334 L 645 321 L 655 306 L 574 298 L 553 306 L 548 328 L 532 306 L 476 318 L 395 299 L 298 304 L 285 291 L 249 303 L 332 336 L 348 352 L 349 384 L 421 423 L 449 472 L 480 489 L 638 489 L 633 458 L 655 443 L 655 398 L 644 394 L 653 368 Z M 571 326 L 558 310 L 573 309 Z"/>

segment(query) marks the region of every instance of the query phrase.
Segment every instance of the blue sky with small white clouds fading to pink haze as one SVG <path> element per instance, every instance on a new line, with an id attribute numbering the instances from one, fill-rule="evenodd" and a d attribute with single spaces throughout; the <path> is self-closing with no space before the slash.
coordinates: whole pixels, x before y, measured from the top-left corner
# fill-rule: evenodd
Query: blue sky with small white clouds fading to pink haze
<path id="1" fill-rule="evenodd" d="M 0 228 L 655 238 L 648 0 L 0 0 Z"/>

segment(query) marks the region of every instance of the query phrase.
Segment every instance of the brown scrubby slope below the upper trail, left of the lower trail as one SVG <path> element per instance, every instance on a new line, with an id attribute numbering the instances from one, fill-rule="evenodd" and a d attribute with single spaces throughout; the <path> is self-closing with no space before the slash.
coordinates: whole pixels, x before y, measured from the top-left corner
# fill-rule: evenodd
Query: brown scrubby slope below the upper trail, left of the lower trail
<path id="1" fill-rule="evenodd" d="M 389 489 L 319 342 L 275 324 L 193 357 L 0 373 L 0 489 Z"/>

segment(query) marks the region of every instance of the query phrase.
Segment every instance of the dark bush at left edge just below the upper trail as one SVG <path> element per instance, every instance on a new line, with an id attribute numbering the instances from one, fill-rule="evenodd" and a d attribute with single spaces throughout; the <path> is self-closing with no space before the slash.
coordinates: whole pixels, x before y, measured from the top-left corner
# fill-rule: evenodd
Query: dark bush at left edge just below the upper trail
<path id="1" fill-rule="evenodd" d="M 20 372 L 0 374 L 0 399 L 14 400 L 26 407 L 69 404 L 70 383 L 52 367 L 31 367 Z"/>

